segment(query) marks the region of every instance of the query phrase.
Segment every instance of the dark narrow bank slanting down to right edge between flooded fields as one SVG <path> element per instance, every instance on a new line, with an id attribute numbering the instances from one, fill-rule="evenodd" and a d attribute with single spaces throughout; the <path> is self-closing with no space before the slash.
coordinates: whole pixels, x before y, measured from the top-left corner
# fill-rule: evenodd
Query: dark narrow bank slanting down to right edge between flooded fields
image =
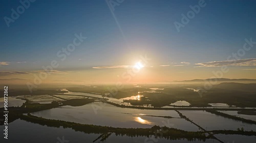
<path id="1" fill-rule="evenodd" d="M 233 120 L 236 120 L 236 121 L 242 121 L 244 123 L 249 123 L 249 124 L 256 124 L 256 121 L 252 121 L 252 120 L 249 120 L 249 119 L 244 119 L 244 118 L 237 117 L 237 116 L 228 115 L 227 113 L 219 112 L 217 110 L 206 110 L 206 111 L 210 112 L 210 113 L 214 113 L 215 115 L 222 116 L 222 117 L 229 118 L 229 119 L 233 119 Z"/>

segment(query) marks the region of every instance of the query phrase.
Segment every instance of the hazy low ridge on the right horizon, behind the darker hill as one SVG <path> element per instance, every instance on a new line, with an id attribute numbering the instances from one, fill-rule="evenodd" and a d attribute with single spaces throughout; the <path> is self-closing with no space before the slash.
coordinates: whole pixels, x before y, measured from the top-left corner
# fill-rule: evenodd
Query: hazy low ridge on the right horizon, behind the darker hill
<path id="1" fill-rule="evenodd" d="M 216 82 L 216 84 L 222 82 L 237 82 L 237 83 L 256 83 L 256 79 L 229 79 L 229 78 L 208 78 L 208 79 L 193 79 L 193 80 L 182 80 L 182 81 L 173 81 L 173 83 L 184 83 L 184 84 L 196 84 L 204 82 Z"/>

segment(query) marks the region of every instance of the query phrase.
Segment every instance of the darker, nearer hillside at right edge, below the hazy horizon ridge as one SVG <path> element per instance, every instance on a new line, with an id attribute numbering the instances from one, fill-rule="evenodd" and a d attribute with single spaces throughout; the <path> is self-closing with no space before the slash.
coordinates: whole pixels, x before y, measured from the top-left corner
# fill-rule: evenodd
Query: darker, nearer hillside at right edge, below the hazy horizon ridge
<path id="1" fill-rule="evenodd" d="M 224 82 L 214 85 L 214 89 L 226 89 L 234 91 L 256 91 L 256 83 L 236 83 L 236 82 Z"/>

